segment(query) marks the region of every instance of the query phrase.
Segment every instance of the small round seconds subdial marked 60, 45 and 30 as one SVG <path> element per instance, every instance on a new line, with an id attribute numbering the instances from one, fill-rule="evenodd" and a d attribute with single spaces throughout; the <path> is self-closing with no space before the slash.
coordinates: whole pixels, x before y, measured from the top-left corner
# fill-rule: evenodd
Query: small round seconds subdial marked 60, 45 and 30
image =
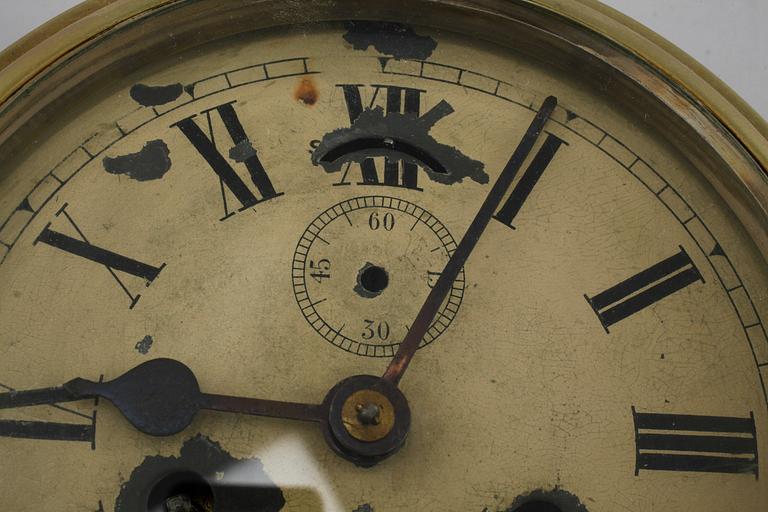
<path id="1" fill-rule="evenodd" d="M 309 225 L 293 258 L 293 290 L 307 322 L 354 354 L 391 357 L 456 242 L 434 215 L 387 196 L 333 205 Z M 464 295 L 464 272 L 424 336 L 451 324 Z"/>

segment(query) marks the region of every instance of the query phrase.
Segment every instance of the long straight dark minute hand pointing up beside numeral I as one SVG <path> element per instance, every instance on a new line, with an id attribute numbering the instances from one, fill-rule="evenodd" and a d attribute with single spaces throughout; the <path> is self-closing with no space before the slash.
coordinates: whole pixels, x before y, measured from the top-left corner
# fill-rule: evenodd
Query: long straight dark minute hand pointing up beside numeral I
<path id="1" fill-rule="evenodd" d="M 419 343 L 421 343 L 422 338 L 424 338 L 427 330 L 432 325 L 435 315 L 440 310 L 440 306 L 451 291 L 453 282 L 459 276 L 469 255 L 477 245 L 478 240 L 480 240 L 480 236 L 491 222 L 494 212 L 499 208 L 502 199 L 504 199 L 507 193 L 507 189 L 509 189 L 517 172 L 533 150 L 534 144 L 541 135 L 544 125 L 549 120 L 556 106 L 557 98 L 554 96 L 548 97 L 542 104 L 531 126 L 520 141 L 520 145 L 517 146 L 514 154 L 493 185 L 488 197 L 485 198 L 480 211 L 477 212 L 472 224 L 470 224 L 469 229 L 464 234 L 464 238 L 461 239 L 459 246 L 445 265 L 445 269 L 440 274 L 435 287 L 429 292 L 429 296 L 427 296 L 427 300 L 421 306 L 418 315 L 416 315 L 416 320 L 414 320 L 411 329 L 403 338 L 400 348 L 398 348 L 397 353 L 384 372 L 382 376 L 384 380 L 397 386 L 400 379 L 403 378 L 405 370 L 408 369 L 411 359 L 413 359 L 416 350 L 419 348 Z"/>

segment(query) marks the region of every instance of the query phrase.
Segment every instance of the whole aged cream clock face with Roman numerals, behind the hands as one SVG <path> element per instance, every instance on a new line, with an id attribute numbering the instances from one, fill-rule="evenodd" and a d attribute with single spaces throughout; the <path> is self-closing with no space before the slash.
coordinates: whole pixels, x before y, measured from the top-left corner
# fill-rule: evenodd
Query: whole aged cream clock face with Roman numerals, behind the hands
<path id="1" fill-rule="evenodd" d="M 0 148 L 0 508 L 761 510 L 754 231 L 650 93 L 552 60 L 305 23 L 144 55 L 29 120 Z M 163 364 L 130 396 L 56 388 L 172 359 L 204 393 L 321 404 L 381 375 L 550 96 L 417 340 L 397 453 L 220 407 L 148 435 L 186 393 Z M 363 445 L 402 419 L 381 393 L 340 412 Z"/>

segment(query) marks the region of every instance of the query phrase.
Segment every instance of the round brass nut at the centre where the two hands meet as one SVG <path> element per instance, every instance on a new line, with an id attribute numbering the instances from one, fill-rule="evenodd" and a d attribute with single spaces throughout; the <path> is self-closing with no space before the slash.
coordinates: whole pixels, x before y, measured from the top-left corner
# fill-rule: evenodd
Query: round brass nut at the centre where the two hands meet
<path id="1" fill-rule="evenodd" d="M 378 409 L 375 418 L 370 411 Z M 349 435 L 358 441 L 374 442 L 384 439 L 395 425 L 395 408 L 392 402 L 370 389 L 352 393 L 341 409 L 341 420 Z"/>

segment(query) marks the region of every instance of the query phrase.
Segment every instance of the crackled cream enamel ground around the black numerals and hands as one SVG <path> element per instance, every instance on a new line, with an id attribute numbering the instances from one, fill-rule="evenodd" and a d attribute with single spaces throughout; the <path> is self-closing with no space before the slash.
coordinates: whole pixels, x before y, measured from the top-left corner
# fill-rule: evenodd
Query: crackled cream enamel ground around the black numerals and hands
<path id="1" fill-rule="evenodd" d="M 447 101 L 455 112 L 430 135 L 481 161 L 491 183 L 532 106 L 554 94 L 561 107 L 547 132 L 566 145 L 515 229 L 490 226 L 466 266 L 456 317 L 418 352 L 402 384 L 413 411 L 406 446 L 362 470 L 329 452 L 310 425 L 204 413 L 188 431 L 156 439 L 103 402 L 67 405 L 87 419 L 52 407 L 4 410 L 2 420 L 86 425 L 98 414 L 94 449 L 0 437 L 0 453 L 14 461 L 0 465 L 0 504 L 98 510 L 101 502 L 113 510 L 142 463 L 179 457 L 202 435 L 233 460 L 257 460 L 284 496 L 283 510 L 320 503 L 327 510 L 506 510 L 520 496 L 554 488 L 591 512 L 759 510 L 768 500 L 765 456 L 759 476 L 637 471 L 633 413 L 753 414 L 757 451 L 768 450 L 765 261 L 685 148 L 600 91 L 514 52 L 419 27 L 437 42 L 426 62 L 380 59 L 373 48 L 354 49 L 346 30 L 257 33 L 137 69 L 79 98 L 34 144 L 19 143 L 34 151 L 8 159 L 0 182 L 0 383 L 29 389 L 76 376 L 109 379 L 148 358 L 173 357 L 211 392 L 317 402 L 341 378 L 380 374 L 384 360 L 342 350 L 307 323 L 293 283 L 302 234 L 335 204 L 386 195 L 430 212 L 458 238 L 489 185 L 446 185 L 418 169 L 418 187 L 386 186 L 380 156 L 372 157 L 379 184 L 365 183 L 358 163 L 347 173 L 323 172 L 312 162 L 313 141 L 352 124 L 340 86 L 359 85 L 362 101 L 382 109 L 385 86 L 423 91 L 421 114 Z M 318 93 L 312 105 L 295 98 L 308 76 Z M 173 102 L 143 106 L 130 96 L 139 83 L 195 85 Z M 228 103 L 248 151 L 210 110 Z M 246 162 L 258 157 L 279 195 L 242 208 L 176 126 L 195 116 L 205 128 L 205 112 L 246 185 L 256 192 Z M 156 140 L 171 155 L 158 179 L 105 171 L 105 158 Z M 380 236 L 371 236 L 369 218 L 355 218 L 351 227 L 367 231 L 328 239 L 342 244 L 337 254 L 354 272 L 317 307 L 349 318 L 345 329 L 357 336 L 370 318 L 355 308 L 376 300 L 355 295 L 358 269 L 375 262 L 426 270 L 416 261 L 421 251 L 388 252 L 430 241 L 428 231 L 409 229 L 409 218 L 398 216 Z M 103 265 L 35 244 L 46 229 L 84 236 L 157 273 L 115 278 Z M 607 333 L 585 295 L 594 298 L 681 246 L 702 279 Z M 373 320 L 407 325 L 412 319 L 402 310 L 423 301 L 429 276 L 391 278 L 381 297 L 392 292 L 397 300 Z M 137 340 L 147 336 L 154 341 L 144 353 Z"/>

